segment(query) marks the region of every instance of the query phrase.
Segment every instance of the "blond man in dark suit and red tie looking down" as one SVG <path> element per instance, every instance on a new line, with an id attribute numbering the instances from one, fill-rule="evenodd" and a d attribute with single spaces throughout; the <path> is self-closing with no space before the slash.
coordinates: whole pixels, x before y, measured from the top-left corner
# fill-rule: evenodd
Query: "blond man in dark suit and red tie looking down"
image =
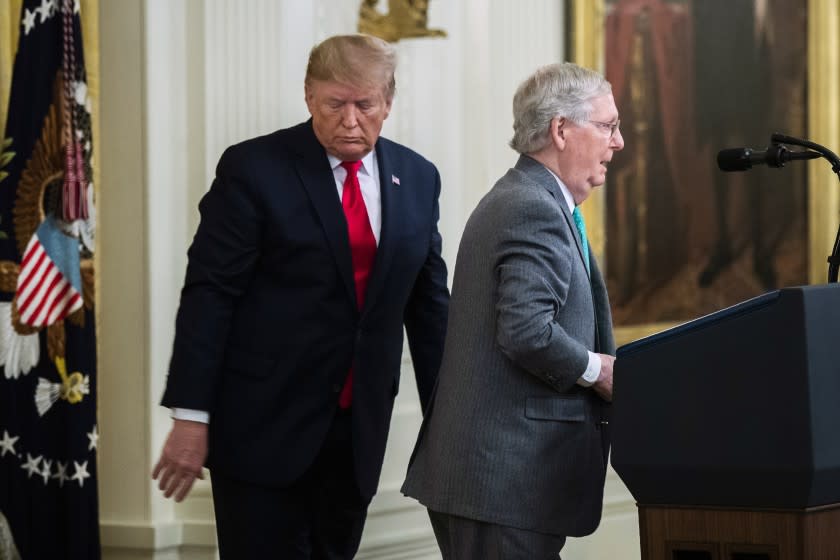
<path id="1" fill-rule="evenodd" d="M 223 558 L 352 558 L 376 492 L 403 326 L 422 405 L 449 293 L 440 177 L 380 138 L 393 47 L 316 46 L 312 118 L 232 146 L 201 201 L 153 476 L 181 500 L 210 468 Z"/>

